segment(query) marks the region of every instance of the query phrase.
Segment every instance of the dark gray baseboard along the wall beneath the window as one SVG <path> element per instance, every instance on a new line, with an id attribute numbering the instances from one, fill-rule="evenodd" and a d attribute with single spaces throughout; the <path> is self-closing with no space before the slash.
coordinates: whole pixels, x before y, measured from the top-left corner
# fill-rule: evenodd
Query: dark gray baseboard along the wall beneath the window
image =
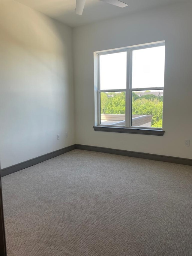
<path id="1" fill-rule="evenodd" d="M 149 154 L 149 153 L 134 152 L 134 151 L 121 150 L 121 149 L 110 149 L 110 148 L 79 145 L 79 144 L 75 144 L 75 148 L 88 150 L 88 151 L 109 153 L 114 155 L 125 155 L 125 156 L 137 157 L 137 158 L 163 161 L 163 162 L 169 162 L 174 164 L 192 165 L 192 159 L 189 159 L 189 158 L 179 158 L 179 157 L 173 157 L 173 156 L 167 156 L 167 155 L 155 155 L 155 154 Z"/>

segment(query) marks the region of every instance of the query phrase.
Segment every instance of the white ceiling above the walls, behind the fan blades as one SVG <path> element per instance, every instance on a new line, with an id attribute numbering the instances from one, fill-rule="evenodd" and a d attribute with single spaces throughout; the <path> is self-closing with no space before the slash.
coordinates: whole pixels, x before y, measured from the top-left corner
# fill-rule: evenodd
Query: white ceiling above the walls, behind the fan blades
<path id="1" fill-rule="evenodd" d="M 76 15 L 76 0 L 16 0 L 71 27 L 125 15 L 143 9 L 188 0 L 123 0 L 128 6 L 120 8 L 98 0 L 86 0 L 82 15 Z"/>

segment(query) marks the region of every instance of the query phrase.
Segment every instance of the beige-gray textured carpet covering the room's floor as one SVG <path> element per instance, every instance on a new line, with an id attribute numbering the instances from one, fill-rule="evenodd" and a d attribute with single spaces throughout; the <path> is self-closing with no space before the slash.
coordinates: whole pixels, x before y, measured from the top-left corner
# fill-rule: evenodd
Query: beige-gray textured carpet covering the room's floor
<path id="1" fill-rule="evenodd" d="M 192 167 L 73 150 L 2 178 L 8 256 L 192 255 Z"/>

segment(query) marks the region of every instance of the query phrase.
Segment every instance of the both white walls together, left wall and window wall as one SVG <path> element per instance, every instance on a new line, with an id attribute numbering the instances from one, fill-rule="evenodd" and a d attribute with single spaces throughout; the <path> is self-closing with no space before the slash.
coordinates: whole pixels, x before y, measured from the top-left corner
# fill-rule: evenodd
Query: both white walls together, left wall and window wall
<path id="1" fill-rule="evenodd" d="M 190 4 L 170 5 L 73 29 L 74 138 L 72 29 L 1 0 L 1 168 L 74 143 L 192 158 L 192 146 L 184 146 L 187 139 L 192 145 L 191 14 Z M 164 136 L 94 131 L 93 52 L 161 40 L 166 41 Z"/>

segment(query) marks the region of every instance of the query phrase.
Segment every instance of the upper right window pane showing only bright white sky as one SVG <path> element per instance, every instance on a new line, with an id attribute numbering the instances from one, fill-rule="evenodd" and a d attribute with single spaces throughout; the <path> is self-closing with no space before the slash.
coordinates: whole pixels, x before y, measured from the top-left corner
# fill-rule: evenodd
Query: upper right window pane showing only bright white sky
<path id="1" fill-rule="evenodd" d="M 132 88 L 163 87 L 165 46 L 133 50 Z"/>

